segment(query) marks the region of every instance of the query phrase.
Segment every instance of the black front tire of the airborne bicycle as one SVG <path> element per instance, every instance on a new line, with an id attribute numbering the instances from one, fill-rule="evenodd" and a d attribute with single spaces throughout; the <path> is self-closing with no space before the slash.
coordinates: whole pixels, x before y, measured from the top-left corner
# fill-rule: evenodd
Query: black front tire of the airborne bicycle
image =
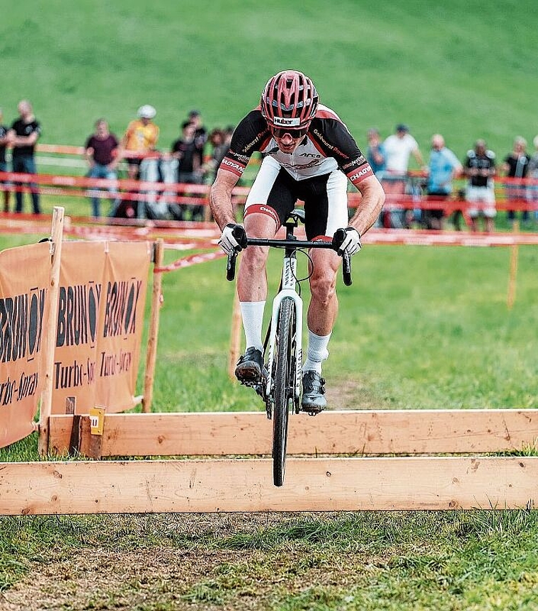
<path id="1" fill-rule="evenodd" d="M 277 326 L 277 350 L 273 363 L 273 483 L 284 484 L 287 426 L 293 406 L 295 377 L 294 333 L 296 329 L 293 299 L 286 297 L 280 304 Z"/>

